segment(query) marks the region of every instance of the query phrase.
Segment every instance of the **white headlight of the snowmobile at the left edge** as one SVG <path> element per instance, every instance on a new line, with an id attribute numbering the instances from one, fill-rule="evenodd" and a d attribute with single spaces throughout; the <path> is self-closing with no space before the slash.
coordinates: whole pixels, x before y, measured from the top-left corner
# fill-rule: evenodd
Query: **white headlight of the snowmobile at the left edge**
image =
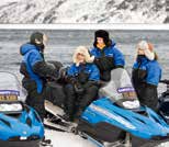
<path id="1" fill-rule="evenodd" d="M 0 103 L 1 113 L 21 112 L 23 110 L 21 103 Z"/>

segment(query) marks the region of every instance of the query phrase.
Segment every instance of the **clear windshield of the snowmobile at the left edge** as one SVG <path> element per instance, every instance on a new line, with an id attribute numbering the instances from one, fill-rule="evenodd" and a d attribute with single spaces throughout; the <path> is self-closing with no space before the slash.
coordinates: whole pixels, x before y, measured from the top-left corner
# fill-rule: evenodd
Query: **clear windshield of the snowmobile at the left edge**
<path id="1" fill-rule="evenodd" d="M 24 101 L 25 90 L 15 75 L 0 71 L 0 101 Z"/>

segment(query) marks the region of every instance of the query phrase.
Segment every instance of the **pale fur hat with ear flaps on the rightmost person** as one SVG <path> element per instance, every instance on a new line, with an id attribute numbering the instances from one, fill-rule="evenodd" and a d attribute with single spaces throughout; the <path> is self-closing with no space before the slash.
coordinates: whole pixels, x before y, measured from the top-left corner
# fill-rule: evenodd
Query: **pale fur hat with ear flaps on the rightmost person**
<path id="1" fill-rule="evenodd" d="M 147 43 L 146 41 L 140 41 L 137 45 L 137 49 L 143 49 L 145 53 L 145 56 L 149 59 L 149 60 L 154 60 L 155 59 L 155 53 L 153 50 L 153 45 L 150 43 Z"/>

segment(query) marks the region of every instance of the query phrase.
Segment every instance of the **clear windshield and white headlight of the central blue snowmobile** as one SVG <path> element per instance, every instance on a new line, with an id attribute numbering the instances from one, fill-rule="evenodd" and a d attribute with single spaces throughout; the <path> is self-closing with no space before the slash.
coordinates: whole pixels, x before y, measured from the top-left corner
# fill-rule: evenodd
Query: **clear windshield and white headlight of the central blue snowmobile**
<path id="1" fill-rule="evenodd" d="M 112 102 L 122 108 L 139 108 L 139 102 L 131 78 L 123 68 L 116 68 L 111 71 L 111 81 L 100 89 L 99 94 L 109 98 Z"/>

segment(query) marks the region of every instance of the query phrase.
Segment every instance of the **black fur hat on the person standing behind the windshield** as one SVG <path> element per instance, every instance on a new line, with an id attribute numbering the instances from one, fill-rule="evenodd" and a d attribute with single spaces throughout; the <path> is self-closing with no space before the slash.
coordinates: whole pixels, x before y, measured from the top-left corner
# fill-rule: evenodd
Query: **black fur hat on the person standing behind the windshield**
<path id="1" fill-rule="evenodd" d="M 106 45 L 110 42 L 109 33 L 104 30 L 98 30 L 94 33 L 94 42 L 97 42 L 97 37 L 102 37 L 104 41 L 104 44 Z"/>

